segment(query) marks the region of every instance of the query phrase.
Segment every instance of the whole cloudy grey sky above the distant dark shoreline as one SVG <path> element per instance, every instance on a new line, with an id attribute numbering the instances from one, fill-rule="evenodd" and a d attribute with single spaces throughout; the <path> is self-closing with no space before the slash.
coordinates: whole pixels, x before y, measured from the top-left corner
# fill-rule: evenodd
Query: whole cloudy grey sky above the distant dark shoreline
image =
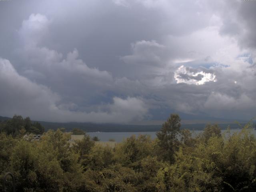
<path id="1" fill-rule="evenodd" d="M 256 1 L 0 0 L 0 116 L 256 116 Z"/>

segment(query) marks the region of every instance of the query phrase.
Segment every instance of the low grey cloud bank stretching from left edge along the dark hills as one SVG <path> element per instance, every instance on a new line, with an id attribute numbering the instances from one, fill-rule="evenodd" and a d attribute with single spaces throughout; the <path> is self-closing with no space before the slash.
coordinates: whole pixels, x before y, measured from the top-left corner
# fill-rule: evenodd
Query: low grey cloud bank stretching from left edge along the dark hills
<path id="1" fill-rule="evenodd" d="M 0 58 L 0 87 L 6 90 L 0 95 L 1 111 L 7 116 L 22 114 L 34 120 L 59 122 L 112 122 L 124 123 L 140 120 L 147 113 L 147 107 L 140 98 L 113 98 L 112 104 L 105 104 L 94 112 L 74 111 L 74 103 L 59 104 L 61 96 L 46 86 L 31 82 L 20 76 L 10 61 Z"/>

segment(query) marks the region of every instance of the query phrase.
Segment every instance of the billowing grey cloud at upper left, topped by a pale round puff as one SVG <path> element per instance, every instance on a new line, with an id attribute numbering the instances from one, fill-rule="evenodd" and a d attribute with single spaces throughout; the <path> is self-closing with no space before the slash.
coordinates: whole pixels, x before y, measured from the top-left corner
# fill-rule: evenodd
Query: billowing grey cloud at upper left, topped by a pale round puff
<path id="1" fill-rule="evenodd" d="M 27 39 L 28 34 L 43 36 L 43 32 L 48 31 L 49 26 L 48 22 L 41 20 L 48 19 L 40 14 L 32 14 L 28 20 L 25 20 L 19 30 L 20 38 Z M 40 27 L 34 27 L 38 22 Z M 49 86 L 58 94 L 64 95 L 63 101 L 80 102 L 79 106 L 82 110 L 93 95 L 100 94 L 111 86 L 113 82 L 111 74 L 88 67 L 78 58 L 76 48 L 64 57 L 56 50 L 40 46 L 37 40 L 33 39 L 34 43 L 30 43 L 30 39 L 24 41 L 24 46 L 17 51 L 21 59 L 16 67 L 20 74 L 26 75 L 30 80 Z"/>

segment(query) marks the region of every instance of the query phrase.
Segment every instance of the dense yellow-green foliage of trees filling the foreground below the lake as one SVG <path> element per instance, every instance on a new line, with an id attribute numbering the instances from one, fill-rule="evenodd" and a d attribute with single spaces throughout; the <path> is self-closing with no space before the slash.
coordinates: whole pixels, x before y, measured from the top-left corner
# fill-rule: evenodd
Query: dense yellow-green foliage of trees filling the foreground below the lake
<path id="1" fill-rule="evenodd" d="M 49 130 L 40 141 L 24 139 L 22 134 L 32 132 L 31 128 L 26 129 L 26 119 L 20 120 L 21 125 L 17 119 L 4 122 L 0 134 L 0 177 L 12 172 L 17 191 L 256 190 L 256 138 L 250 133 L 251 124 L 235 134 L 229 130 L 221 134 L 217 125 L 208 125 L 192 136 L 189 130 L 180 130 L 180 117 L 172 114 L 155 140 L 131 136 L 110 148 L 95 144 L 86 134 L 70 146 L 70 135 L 60 129 Z M 14 124 L 19 132 L 6 131 Z M 20 131 L 22 126 L 25 132 Z"/>

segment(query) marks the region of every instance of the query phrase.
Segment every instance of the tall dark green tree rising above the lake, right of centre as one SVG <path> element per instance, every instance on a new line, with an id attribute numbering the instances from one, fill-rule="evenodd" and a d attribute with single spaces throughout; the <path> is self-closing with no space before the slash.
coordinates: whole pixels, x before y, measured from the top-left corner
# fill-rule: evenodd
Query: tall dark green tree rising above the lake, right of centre
<path id="1" fill-rule="evenodd" d="M 178 150 L 180 144 L 177 136 L 180 134 L 180 116 L 171 114 L 162 125 L 160 132 L 157 132 L 158 146 L 160 154 L 164 160 L 174 162 L 174 152 Z"/>

